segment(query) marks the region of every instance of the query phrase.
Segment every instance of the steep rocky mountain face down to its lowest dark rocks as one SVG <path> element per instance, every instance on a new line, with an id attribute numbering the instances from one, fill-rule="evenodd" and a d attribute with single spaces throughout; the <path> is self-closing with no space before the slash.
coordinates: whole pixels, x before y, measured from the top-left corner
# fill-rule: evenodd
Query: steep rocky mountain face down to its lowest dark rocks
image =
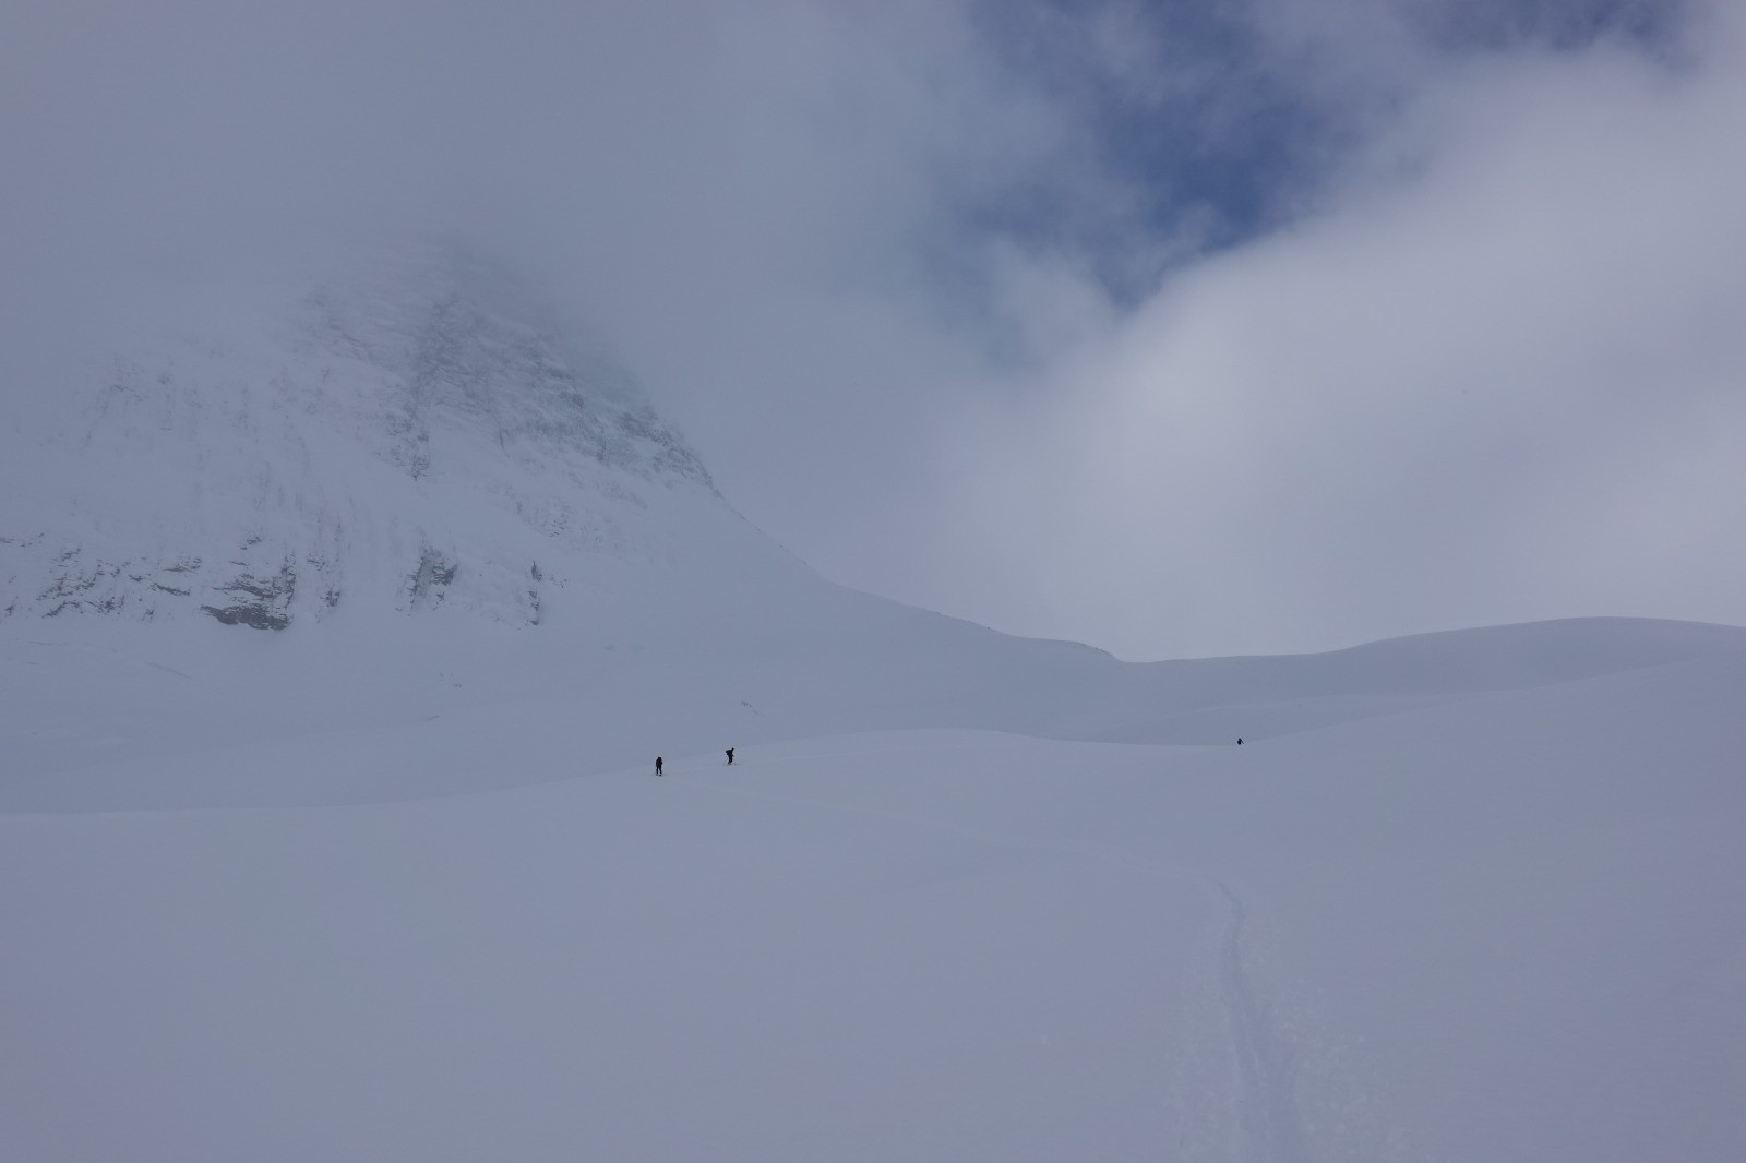
<path id="1" fill-rule="evenodd" d="M 72 372 L 14 459 L 0 616 L 538 623 L 585 562 L 683 552 L 658 510 L 735 520 L 623 367 L 461 248 L 382 251 L 295 304 L 183 306 Z"/>

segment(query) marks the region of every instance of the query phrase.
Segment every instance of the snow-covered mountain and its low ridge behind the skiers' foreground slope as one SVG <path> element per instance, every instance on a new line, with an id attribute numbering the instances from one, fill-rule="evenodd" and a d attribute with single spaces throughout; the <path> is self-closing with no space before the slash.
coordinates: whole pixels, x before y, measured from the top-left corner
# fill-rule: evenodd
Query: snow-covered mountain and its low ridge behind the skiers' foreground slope
<path id="1" fill-rule="evenodd" d="M 0 802 L 192 740 L 506 705 L 574 721 L 581 770 L 821 730 L 1264 739 L 1739 637 L 1613 620 L 1124 664 L 819 578 L 538 283 L 454 244 L 173 285 L 113 318 L 3 370 L 0 402 L 33 407 L 0 426 Z M 264 795 L 223 770 L 164 802 Z M 269 798 L 435 795 L 457 770 L 409 760 Z"/>

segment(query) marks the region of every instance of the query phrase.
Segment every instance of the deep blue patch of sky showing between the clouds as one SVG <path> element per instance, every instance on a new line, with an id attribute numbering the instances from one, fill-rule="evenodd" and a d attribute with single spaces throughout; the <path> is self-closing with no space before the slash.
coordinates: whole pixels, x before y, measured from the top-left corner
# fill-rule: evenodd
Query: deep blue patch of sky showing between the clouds
<path id="1" fill-rule="evenodd" d="M 1074 253 L 1117 304 L 1170 269 L 1243 244 L 1315 204 L 1341 159 L 1386 124 L 1416 80 L 1409 58 L 1580 51 L 1671 54 L 1688 0 L 1395 0 L 1374 44 L 1262 0 L 973 0 L 1002 66 L 1041 91 L 1074 136 L 1070 166 L 985 189 L 962 225 L 1027 250 Z M 1320 24 L 1320 26 L 1318 26 Z M 1337 28 L 1337 31 L 1336 31 Z M 1339 44 L 1344 38 L 1346 44 Z M 1327 63 L 1339 61 L 1339 77 Z"/>

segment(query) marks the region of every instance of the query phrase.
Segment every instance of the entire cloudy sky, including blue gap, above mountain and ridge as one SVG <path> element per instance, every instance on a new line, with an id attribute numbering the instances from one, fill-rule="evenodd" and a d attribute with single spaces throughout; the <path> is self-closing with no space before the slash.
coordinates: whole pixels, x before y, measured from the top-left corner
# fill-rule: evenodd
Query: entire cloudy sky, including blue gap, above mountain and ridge
<path id="1" fill-rule="evenodd" d="M 849 585 L 1126 658 L 1746 623 L 1723 0 L 0 10 L 0 311 L 461 231 Z"/>

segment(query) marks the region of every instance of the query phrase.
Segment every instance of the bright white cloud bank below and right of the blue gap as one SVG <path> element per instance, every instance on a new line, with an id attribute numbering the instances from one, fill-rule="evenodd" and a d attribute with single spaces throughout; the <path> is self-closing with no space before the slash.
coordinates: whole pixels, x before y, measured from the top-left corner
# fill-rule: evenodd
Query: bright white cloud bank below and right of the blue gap
<path id="1" fill-rule="evenodd" d="M 1442 70 L 1323 213 L 1180 272 L 1000 438 L 967 416 L 997 622 L 1142 657 L 1746 622 L 1746 73 L 1708 31 L 1680 70 Z"/>

